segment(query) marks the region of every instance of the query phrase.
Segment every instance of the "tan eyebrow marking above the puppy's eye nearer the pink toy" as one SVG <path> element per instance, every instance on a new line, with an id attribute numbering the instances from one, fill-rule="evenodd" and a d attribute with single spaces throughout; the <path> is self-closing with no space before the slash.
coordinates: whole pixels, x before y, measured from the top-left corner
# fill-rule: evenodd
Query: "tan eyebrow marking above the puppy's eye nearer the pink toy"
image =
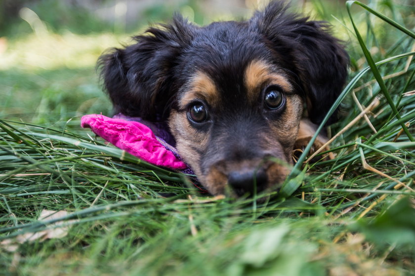
<path id="1" fill-rule="evenodd" d="M 188 91 L 179 99 L 180 107 L 184 108 L 195 99 L 202 98 L 207 104 L 215 107 L 219 101 L 219 93 L 213 80 L 203 72 L 197 72 L 187 85 Z"/>

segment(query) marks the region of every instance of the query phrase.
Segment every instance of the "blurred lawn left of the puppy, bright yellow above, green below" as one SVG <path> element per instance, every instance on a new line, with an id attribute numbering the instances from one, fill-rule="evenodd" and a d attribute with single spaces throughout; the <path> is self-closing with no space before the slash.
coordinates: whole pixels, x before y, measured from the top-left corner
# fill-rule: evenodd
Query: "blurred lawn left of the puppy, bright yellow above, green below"
<path id="1" fill-rule="evenodd" d="M 31 34 L 0 53 L 0 115 L 35 123 L 110 112 L 96 61 L 120 40 L 111 34 Z"/>

